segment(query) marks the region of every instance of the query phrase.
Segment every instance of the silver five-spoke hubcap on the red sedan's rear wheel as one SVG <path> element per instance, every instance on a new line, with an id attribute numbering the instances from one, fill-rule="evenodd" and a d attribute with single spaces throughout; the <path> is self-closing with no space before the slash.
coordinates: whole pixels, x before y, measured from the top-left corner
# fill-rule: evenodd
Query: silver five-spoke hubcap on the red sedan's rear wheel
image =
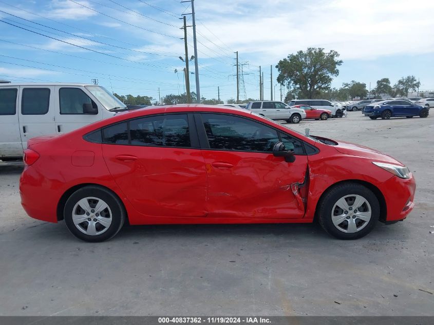
<path id="1" fill-rule="evenodd" d="M 111 225 L 112 213 L 108 204 L 95 197 L 86 197 L 74 205 L 72 221 L 83 234 L 96 236 L 105 233 Z"/>

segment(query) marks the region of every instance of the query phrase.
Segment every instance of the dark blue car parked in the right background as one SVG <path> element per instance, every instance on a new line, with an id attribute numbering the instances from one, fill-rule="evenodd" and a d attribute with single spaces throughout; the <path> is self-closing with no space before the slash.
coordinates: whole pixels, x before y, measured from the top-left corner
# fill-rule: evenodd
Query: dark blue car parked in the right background
<path id="1" fill-rule="evenodd" d="M 421 118 L 428 117 L 429 107 L 414 105 L 405 100 L 389 99 L 382 102 L 376 102 L 365 106 L 363 114 L 369 116 L 371 120 L 382 118 L 388 120 L 394 117 L 412 118 L 419 116 Z"/>

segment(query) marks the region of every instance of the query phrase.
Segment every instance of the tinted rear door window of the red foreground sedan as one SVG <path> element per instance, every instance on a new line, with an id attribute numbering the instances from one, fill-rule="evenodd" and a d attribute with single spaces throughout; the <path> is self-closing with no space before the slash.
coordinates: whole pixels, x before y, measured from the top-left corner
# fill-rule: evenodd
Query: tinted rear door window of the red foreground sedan
<path id="1" fill-rule="evenodd" d="M 129 121 L 131 144 L 190 147 L 186 114 L 151 116 Z"/>

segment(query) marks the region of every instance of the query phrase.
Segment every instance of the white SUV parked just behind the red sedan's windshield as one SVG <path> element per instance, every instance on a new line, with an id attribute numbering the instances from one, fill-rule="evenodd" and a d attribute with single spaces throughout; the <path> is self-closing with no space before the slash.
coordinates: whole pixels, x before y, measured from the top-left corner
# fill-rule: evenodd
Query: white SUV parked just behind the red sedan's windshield
<path id="1" fill-rule="evenodd" d="M 249 102 L 246 109 L 271 120 L 285 120 L 288 123 L 299 123 L 306 119 L 306 111 L 297 107 L 289 107 L 282 102 L 255 101 Z"/>

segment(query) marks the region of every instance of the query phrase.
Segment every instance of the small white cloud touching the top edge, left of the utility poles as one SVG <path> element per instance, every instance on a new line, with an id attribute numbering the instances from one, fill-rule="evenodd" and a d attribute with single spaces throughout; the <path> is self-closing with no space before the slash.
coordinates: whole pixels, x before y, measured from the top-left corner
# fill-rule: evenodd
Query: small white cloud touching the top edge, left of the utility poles
<path id="1" fill-rule="evenodd" d="M 87 1 L 77 2 L 86 7 L 92 8 Z M 44 13 L 46 17 L 64 20 L 85 20 L 97 14 L 98 13 L 95 11 L 84 8 L 68 0 L 52 0 L 48 5 L 48 10 Z"/>

